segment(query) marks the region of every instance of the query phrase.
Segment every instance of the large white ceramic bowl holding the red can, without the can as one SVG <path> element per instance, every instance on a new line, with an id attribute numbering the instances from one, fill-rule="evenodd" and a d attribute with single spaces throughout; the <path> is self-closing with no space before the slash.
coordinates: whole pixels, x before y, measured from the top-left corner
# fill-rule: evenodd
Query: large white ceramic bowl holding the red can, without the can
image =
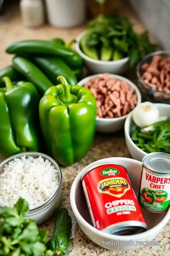
<path id="1" fill-rule="evenodd" d="M 149 212 L 142 208 L 142 212 L 144 214 L 144 218 L 146 220 L 148 230 L 137 235 L 130 235 L 130 236 L 117 236 L 117 235 L 110 235 L 106 234 L 98 229 L 95 229 L 91 224 L 91 219 L 89 215 L 89 211 L 87 208 L 87 204 L 85 201 L 85 195 L 81 183 L 82 174 L 89 168 L 94 168 L 96 165 L 105 164 L 105 163 L 119 163 L 124 165 L 127 169 L 128 176 L 136 193 L 138 195 L 139 189 L 139 181 L 140 181 L 140 174 L 141 174 L 141 167 L 142 163 L 130 158 L 123 158 L 123 157 L 112 157 L 106 158 L 99 161 L 92 163 L 85 167 L 76 177 L 74 180 L 71 192 L 70 192 L 70 202 L 72 210 L 75 214 L 76 220 L 78 225 L 85 233 L 85 235 L 90 238 L 94 243 L 101 247 L 105 247 L 110 250 L 130 250 L 140 247 L 141 245 L 136 245 L 139 241 L 151 241 L 153 240 L 163 229 L 163 227 L 167 224 L 170 219 L 170 209 L 164 212 L 160 212 L 159 214 Z M 95 166 L 94 166 L 95 165 Z M 103 246 L 103 241 L 112 242 L 115 246 Z M 120 241 L 129 242 L 129 245 L 120 245 Z M 117 243 L 117 245 L 116 245 Z M 124 244 L 124 243 L 123 243 Z"/>

